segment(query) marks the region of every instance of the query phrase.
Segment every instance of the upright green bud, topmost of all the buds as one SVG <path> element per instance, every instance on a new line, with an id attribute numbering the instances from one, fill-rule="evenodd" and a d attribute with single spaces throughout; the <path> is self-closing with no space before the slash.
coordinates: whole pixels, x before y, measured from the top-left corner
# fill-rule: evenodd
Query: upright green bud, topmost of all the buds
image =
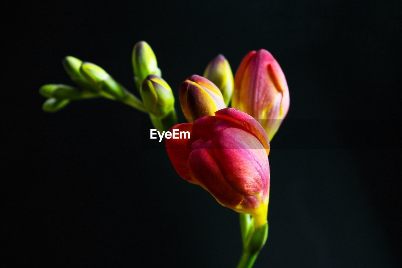
<path id="1" fill-rule="evenodd" d="M 141 88 L 142 81 L 144 81 L 149 74 L 155 74 L 159 77 L 162 76 L 158 68 L 158 63 L 156 62 L 154 51 L 147 42 L 139 41 L 135 44 L 132 60 L 134 81 L 138 90 Z"/>

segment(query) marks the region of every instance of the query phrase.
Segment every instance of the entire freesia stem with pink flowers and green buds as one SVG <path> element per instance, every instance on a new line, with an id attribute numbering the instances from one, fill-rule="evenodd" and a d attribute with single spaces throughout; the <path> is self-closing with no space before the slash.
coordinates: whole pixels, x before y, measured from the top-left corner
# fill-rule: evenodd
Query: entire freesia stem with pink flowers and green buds
<path id="1" fill-rule="evenodd" d="M 131 59 L 141 99 L 100 66 L 67 56 L 63 66 L 77 87 L 42 86 L 39 93 L 47 98 L 43 111 L 58 111 L 73 100 L 105 97 L 147 112 L 156 128 L 150 138 L 166 138 L 177 173 L 240 213 L 243 256 L 238 267 L 251 267 L 268 235 L 269 142 L 289 109 L 281 67 L 271 53 L 260 49 L 243 58 L 233 77 L 228 60 L 219 54 L 203 76 L 193 74 L 180 84 L 180 106 L 189 123 L 177 124 L 173 91 L 162 79 L 150 45 L 136 43 Z M 230 103 L 232 108 L 227 107 Z"/>

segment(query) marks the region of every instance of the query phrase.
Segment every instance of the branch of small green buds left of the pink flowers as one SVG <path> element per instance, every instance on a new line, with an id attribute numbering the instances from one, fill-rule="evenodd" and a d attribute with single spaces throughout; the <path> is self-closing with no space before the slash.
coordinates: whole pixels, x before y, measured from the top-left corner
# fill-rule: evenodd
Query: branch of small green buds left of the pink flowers
<path id="1" fill-rule="evenodd" d="M 160 77 L 156 56 L 148 43 L 140 41 L 135 44 L 132 62 L 135 85 L 142 100 L 127 91 L 100 66 L 67 56 L 63 59 L 63 66 L 77 87 L 62 84 L 41 87 L 39 93 L 48 98 L 42 106 L 43 111 L 58 111 L 74 100 L 104 97 L 148 112 L 158 130 L 169 129 L 177 122 L 174 96 L 172 89 Z"/>

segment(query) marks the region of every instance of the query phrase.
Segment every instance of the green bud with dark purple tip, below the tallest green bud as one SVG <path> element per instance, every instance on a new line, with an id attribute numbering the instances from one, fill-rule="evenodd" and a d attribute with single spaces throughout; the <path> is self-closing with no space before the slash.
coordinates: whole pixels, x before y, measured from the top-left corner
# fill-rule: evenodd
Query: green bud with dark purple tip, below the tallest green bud
<path id="1" fill-rule="evenodd" d="M 155 74 L 148 75 L 142 82 L 140 93 L 145 109 L 156 118 L 164 118 L 174 109 L 172 89 Z"/>

